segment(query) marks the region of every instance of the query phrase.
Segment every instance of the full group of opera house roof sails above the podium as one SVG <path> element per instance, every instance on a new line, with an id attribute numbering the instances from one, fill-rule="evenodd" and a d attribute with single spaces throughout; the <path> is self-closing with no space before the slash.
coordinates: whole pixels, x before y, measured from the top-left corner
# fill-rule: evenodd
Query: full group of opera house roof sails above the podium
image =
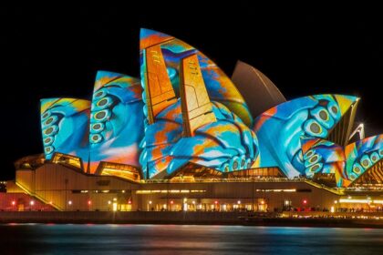
<path id="1" fill-rule="evenodd" d="M 242 93 L 251 91 L 245 98 L 254 114 L 275 107 L 252 116 L 211 59 L 173 36 L 141 29 L 140 79 L 99 71 L 91 103 L 41 100 L 46 158 L 60 152 L 81 158 L 88 173 L 131 181 L 225 178 L 226 172 L 275 168 L 288 178 L 348 187 L 377 175 L 383 135 L 348 144 L 358 97 L 326 94 L 285 102 L 253 66 L 240 63 L 233 77 Z"/>

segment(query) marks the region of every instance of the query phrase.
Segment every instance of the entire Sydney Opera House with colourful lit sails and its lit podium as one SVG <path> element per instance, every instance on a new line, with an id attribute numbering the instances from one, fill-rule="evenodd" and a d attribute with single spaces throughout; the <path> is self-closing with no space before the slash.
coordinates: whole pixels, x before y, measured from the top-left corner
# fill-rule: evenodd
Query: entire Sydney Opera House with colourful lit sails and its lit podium
<path id="1" fill-rule="evenodd" d="M 41 99 L 44 153 L 16 161 L 0 207 L 382 209 L 383 135 L 364 137 L 358 104 L 287 101 L 253 66 L 239 61 L 229 77 L 141 29 L 140 78 L 99 71 L 92 98 Z"/>

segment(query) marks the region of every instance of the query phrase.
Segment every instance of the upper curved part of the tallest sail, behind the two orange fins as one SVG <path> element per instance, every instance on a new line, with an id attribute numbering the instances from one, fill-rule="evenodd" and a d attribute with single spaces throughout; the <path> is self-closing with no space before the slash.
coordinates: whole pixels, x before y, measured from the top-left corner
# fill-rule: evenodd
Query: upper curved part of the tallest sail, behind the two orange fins
<path id="1" fill-rule="evenodd" d="M 211 59 L 203 55 L 202 52 L 173 36 L 144 28 L 140 30 L 140 51 L 142 82 L 145 79 L 146 68 L 144 54 L 160 51 L 171 80 L 171 85 L 177 96 L 179 96 L 180 91 L 181 59 L 194 54 L 197 55 L 203 80 L 211 100 L 223 103 L 225 107 L 228 107 L 234 114 L 241 117 L 248 127 L 251 127 L 253 117 L 243 97 L 233 85 L 232 80 Z"/>

